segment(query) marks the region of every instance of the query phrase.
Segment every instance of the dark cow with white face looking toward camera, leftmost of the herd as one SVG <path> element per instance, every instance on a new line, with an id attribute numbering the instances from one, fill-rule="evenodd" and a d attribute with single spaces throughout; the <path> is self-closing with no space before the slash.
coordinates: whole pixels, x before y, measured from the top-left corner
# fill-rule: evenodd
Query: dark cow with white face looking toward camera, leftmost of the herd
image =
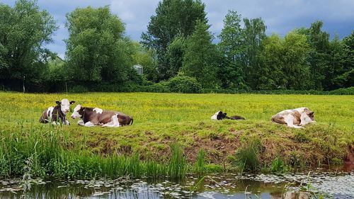
<path id="1" fill-rule="evenodd" d="M 40 116 L 40 123 L 52 123 L 53 125 L 70 125 L 67 120 L 67 113 L 70 110 L 70 105 L 75 101 L 70 101 L 67 98 L 63 98 L 62 101 L 56 101 L 57 106 L 50 106 Z"/>

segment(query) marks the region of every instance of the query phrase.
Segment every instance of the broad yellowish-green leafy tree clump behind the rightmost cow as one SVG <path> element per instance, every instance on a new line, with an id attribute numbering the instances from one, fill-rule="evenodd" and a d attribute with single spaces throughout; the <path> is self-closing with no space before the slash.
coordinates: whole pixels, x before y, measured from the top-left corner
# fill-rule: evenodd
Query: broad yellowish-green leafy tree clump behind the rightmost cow
<path id="1" fill-rule="evenodd" d="M 309 45 L 307 37 L 290 32 L 285 38 L 271 35 L 263 40 L 258 83 L 256 89 L 308 89 L 311 82 L 309 75 Z"/>

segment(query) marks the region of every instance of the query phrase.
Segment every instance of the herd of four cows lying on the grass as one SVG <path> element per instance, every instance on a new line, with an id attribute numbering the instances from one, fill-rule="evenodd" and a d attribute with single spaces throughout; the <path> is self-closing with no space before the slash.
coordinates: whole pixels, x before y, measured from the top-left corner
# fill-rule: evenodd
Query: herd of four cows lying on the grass
<path id="1" fill-rule="evenodd" d="M 47 108 L 40 117 L 40 123 L 52 123 L 54 125 L 70 125 L 67 120 L 67 113 L 70 110 L 70 105 L 75 101 L 70 101 L 67 98 L 62 101 L 56 101 L 57 106 Z M 115 110 L 102 110 L 101 108 L 89 108 L 77 105 L 71 117 L 73 119 L 81 118 L 77 122 L 78 125 L 86 127 L 93 127 L 101 125 L 102 127 L 120 127 L 122 125 L 132 125 L 133 118 L 124 113 Z M 211 117 L 212 120 L 245 120 L 239 115 L 227 116 L 227 113 L 222 113 L 221 110 L 217 111 Z M 288 127 L 302 128 L 309 123 L 316 123 L 314 120 L 314 112 L 309 108 L 295 108 L 292 110 L 282 110 L 272 116 L 273 123 L 287 125 Z"/>

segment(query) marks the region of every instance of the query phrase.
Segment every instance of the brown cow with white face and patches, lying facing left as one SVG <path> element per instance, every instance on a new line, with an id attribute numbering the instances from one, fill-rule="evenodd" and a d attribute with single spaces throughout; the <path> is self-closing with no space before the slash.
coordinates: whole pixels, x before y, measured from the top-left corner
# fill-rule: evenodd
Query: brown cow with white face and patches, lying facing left
<path id="1" fill-rule="evenodd" d="M 133 118 L 124 113 L 114 110 L 102 110 L 101 108 L 89 108 L 77 105 L 72 113 L 72 118 L 81 118 L 78 125 L 93 127 L 101 125 L 102 127 L 120 127 L 122 125 L 132 125 Z"/>

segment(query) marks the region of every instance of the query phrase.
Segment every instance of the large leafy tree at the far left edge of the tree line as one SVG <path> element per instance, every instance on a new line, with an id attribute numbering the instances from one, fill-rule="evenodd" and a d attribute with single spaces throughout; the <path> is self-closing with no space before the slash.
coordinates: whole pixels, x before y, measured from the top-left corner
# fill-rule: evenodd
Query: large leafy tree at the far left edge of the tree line
<path id="1" fill-rule="evenodd" d="M 43 46 L 55 30 L 55 20 L 36 1 L 18 0 L 13 8 L 0 3 L 0 79 L 42 81 L 52 55 Z"/>

